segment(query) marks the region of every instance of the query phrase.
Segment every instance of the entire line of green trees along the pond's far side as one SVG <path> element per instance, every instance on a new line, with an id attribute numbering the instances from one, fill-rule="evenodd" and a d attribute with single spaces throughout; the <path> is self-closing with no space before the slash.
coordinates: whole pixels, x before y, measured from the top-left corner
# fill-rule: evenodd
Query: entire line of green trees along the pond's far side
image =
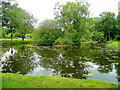
<path id="1" fill-rule="evenodd" d="M 2 2 L 2 37 L 10 35 L 24 40 L 27 34 L 31 34 L 38 45 L 120 40 L 120 15 L 102 12 L 99 17 L 91 18 L 87 2 L 56 3 L 54 20 L 44 20 L 38 28 L 34 28 L 36 20 L 32 15 L 11 2 Z"/>

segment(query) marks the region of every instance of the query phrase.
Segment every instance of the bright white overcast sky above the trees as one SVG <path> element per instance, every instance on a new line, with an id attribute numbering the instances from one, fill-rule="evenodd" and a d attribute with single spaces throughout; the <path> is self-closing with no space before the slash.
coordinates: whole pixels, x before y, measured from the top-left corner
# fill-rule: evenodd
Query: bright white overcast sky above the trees
<path id="1" fill-rule="evenodd" d="M 45 19 L 54 18 L 55 3 L 65 4 L 67 1 L 74 0 L 17 0 L 21 8 L 38 19 L 39 22 Z M 118 1 L 120 0 L 87 0 L 90 3 L 90 12 L 92 17 L 98 17 L 103 11 L 114 12 L 118 14 Z"/>

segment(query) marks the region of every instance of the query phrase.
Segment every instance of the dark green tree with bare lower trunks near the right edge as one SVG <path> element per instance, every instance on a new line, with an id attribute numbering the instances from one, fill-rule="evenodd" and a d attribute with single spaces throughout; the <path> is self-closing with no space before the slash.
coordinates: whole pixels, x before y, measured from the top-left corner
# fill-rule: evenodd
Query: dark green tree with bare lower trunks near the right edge
<path id="1" fill-rule="evenodd" d="M 99 31 L 104 32 L 104 37 L 107 40 L 112 40 L 116 35 L 116 19 L 112 12 L 102 12 L 100 14 L 101 21 L 99 22 Z"/>

